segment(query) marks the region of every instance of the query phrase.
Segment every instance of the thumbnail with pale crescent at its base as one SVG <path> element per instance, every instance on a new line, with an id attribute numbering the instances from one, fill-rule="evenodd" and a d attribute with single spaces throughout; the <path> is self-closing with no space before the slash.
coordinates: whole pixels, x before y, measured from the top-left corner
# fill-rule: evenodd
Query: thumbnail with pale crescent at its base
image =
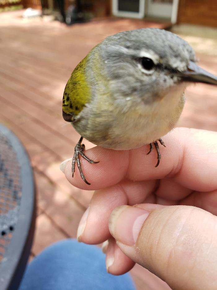
<path id="1" fill-rule="evenodd" d="M 109 231 L 117 241 L 133 246 L 149 213 L 145 209 L 121 205 L 114 209 L 110 215 Z"/>

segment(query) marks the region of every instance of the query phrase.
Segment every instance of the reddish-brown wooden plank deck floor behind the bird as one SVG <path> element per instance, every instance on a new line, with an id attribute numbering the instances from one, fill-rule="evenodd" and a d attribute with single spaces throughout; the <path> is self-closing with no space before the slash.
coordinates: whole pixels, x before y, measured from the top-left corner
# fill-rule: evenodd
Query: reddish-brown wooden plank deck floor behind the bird
<path id="1" fill-rule="evenodd" d="M 71 72 L 105 36 L 158 24 L 104 19 L 67 27 L 42 19 L 23 21 L 21 14 L 0 14 L 0 118 L 25 145 L 35 173 L 38 216 L 34 256 L 52 242 L 76 237 L 79 220 L 93 194 L 71 186 L 59 169 L 60 162 L 72 156 L 79 138 L 61 114 L 62 95 Z M 199 53 L 201 66 L 216 73 L 217 56 L 207 53 Z M 179 126 L 216 131 L 217 89 L 197 85 L 186 95 Z M 91 147 L 86 142 L 86 148 Z M 138 289 L 149 289 L 144 273 L 138 265 L 132 270 Z"/>

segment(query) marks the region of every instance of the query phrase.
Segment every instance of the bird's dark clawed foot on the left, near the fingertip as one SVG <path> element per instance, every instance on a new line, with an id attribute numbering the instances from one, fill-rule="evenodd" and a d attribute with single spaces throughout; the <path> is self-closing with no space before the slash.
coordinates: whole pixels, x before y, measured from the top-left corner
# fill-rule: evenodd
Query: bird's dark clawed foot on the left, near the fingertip
<path id="1" fill-rule="evenodd" d="M 89 163 L 99 163 L 100 161 L 93 161 L 90 158 L 88 158 L 85 154 L 84 154 L 84 150 L 85 150 L 85 145 L 82 144 L 82 140 L 83 137 L 81 136 L 81 138 L 79 139 L 78 143 L 75 145 L 75 153 L 72 159 L 72 177 L 74 176 L 75 173 L 75 163 L 77 163 L 78 169 L 80 171 L 81 174 L 81 178 L 83 179 L 84 182 L 86 182 L 86 184 L 90 185 L 90 183 L 86 180 L 84 173 L 82 171 L 82 166 L 81 166 L 81 162 L 80 162 L 80 155 L 86 159 Z"/>

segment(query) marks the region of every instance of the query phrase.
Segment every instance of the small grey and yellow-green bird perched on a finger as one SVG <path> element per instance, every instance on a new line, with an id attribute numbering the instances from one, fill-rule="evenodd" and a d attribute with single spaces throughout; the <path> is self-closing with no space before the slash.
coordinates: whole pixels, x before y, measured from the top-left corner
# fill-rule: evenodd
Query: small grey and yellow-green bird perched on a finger
<path id="1" fill-rule="evenodd" d="M 117 33 L 96 45 L 72 72 L 63 95 L 63 118 L 81 135 L 75 146 L 72 177 L 83 138 L 113 150 L 155 147 L 182 113 L 190 83 L 217 85 L 217 78 L 196 64 L 193 48 L 166 30 L 145 28 Z M 166 146 L 165 146 L 166 147 Z"/>

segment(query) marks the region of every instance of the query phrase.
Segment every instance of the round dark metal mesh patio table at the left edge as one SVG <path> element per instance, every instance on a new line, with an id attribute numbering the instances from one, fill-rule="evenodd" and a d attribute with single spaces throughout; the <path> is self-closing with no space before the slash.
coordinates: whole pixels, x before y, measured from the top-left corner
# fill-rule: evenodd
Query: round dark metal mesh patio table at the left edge
<path id="1" fill-rule="evenodd" d="M 35 186 L 28 155 L 18 138 L 0 124 L 0 290 L 19 287 L 34 225 Z"/>

